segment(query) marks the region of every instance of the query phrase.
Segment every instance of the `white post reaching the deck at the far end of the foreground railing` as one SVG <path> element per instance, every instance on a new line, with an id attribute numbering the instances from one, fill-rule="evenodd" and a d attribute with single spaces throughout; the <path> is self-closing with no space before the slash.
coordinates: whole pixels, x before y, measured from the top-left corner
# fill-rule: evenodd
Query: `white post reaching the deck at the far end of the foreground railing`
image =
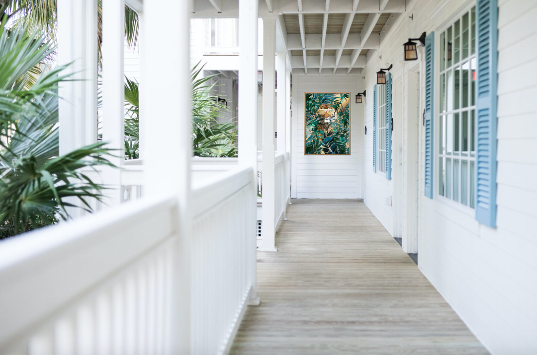
<path id="1" fill-rule="evenodd" d="M 250 240 L 250 291 L 249 305 L 259 305 L 257 297 L 257 1 L 240 0 L 238 3 L 239 67 L 238 71 L 238 164 L 252 167 L 251 187 L 251 239 Z M 252 115 L 253 113 L 253 115 Z M 253 118 L 252 118 L 253 117 Z"/>

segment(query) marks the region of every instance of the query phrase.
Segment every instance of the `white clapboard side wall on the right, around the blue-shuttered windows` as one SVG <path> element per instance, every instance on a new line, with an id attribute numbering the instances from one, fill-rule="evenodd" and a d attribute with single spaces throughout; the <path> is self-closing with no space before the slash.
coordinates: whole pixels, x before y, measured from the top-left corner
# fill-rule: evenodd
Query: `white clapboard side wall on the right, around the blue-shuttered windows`
<path id="1" fill-rule="evenodd" d="M 401 78 L 403 43 L 423 31 L 435 31 L 469 4 L 462 0 L 409 1 L 407 12 L 388 25 L 395 28 L 381 39 L 381 48 L 367 55 L 365 203 L 390 232 L 393 213 L 386 205 L 386 197 L 391 196 L 393 187 L 383 175 L 372 172 L 369 129 L 375 72 L 391 63 L 394 80 Z M 423 196 L 420 124 L 419 268 L 491 353 L 536 354 L 537 2 L 499 0 L 498 7 L 497 227 L 480 225 L 473 212 L 456 203 L 442 202 L 437 196 L 438 171 L 434 198 Z M 413 20 L 409 18 L 411 14 Z M 420 50 L 423 54 L 423 48 Z M 438 83 L 438 78 L 435 81 Z M 423 71 L 420 87 L 423 105 Z M 406 97 L 403 105 L 405 101 Z M 438 118 L 435 129 L 437 122 Z M 435 149 L 436 142 L 437 139 Z M 404 147 L 411 143 L 414 142 L 404 142 Z M 438 168 L 437 164 L 434 168 Z"/>

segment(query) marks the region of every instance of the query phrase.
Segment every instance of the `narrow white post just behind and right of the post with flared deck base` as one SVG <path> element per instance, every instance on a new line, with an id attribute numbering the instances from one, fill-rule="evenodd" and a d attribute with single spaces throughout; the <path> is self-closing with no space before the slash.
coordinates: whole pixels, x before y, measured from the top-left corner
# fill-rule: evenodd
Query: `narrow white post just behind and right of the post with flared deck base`
<path id="1" fill-rule="evenodd" d="M 275 191 L 277 194 L 284 194 L 284 198 L 282 198 L 282 204 L 283 205 L 283 214 L 281 216 L 282 220 L 287 220 L 285 215 L 285 210 L 287 206 L 287 159 L 286 159 L 286 153 L 287 153 L 287 52 L 280 51 L 276 53 L 277 58 L 277 75 L 278 75 L 278 95 L 277 100 L 278 103 L 276 105 L 278 110 L 277 115 L 277 132 L 278 132 L 278 141 L 277 141 L 277 149 L 278 154 L 284 154 L 284 184 L 282 186 L 282 189 L 284 191 Z"/>

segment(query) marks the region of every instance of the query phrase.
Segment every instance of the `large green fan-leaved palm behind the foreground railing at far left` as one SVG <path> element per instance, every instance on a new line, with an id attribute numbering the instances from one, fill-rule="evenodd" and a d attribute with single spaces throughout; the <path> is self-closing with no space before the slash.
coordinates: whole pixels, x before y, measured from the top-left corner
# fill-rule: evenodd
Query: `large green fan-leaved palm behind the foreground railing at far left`
<path id="1" fill-rule="evenodd" d="M 49 70 L 25 89 L 20 78 L 55 49 L 53 41 L 27 28 L 0 24 L 0 236 L 69 218 L 70 198 L 91 211 L 103 185 L 82 170 L 112 165 L 109 149 L 95 143 L 59 156 L 57 87 L 66 66 Z M 26 35 L 30 33 L 30 35 Z"/>

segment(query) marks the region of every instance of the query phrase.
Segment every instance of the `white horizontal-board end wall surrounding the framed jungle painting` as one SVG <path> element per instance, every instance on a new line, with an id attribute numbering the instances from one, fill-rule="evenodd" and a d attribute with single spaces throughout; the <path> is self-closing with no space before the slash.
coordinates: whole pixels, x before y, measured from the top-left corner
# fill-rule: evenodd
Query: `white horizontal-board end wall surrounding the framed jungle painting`
<path id="1" fill-rule="evenodd" d="M 293 70 L 292 181 L 293 198 L 362 198 L 362 146 L 364 105 L 354 102 L 362 79 L 345 73 L 300 74 Z M 303 72 L 303 71 L 302 71 Z M 304 93 L 350 92 L 351 155 L 304 156 Z"/>

